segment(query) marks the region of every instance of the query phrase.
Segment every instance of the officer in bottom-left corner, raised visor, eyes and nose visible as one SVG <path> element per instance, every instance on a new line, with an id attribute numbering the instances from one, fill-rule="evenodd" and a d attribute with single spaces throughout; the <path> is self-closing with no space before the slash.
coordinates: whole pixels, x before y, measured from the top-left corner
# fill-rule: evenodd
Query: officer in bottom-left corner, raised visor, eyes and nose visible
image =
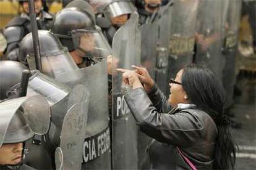
<path id="1" fill-rule="evenodd" d="M 48 103 L 39 95 L 19 97 L 1 102 L 0 109 L 0 169 L 33 169 L 23 164 L 25 143 L 48 131 Z"/>

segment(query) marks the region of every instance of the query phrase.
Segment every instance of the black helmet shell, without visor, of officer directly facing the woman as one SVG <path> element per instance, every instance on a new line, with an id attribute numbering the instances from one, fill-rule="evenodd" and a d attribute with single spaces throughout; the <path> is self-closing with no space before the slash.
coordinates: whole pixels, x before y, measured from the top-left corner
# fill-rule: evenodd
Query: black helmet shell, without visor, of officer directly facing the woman
<path id="1" fill-rule="evenodd" d="M 71 33 L 77 29 L 96 29 L 92 7 L 82 0 L 71 1 L 66 8 L 56 14 L 53 21 L 53 33 L 69 51 L 74 51 Z"/>

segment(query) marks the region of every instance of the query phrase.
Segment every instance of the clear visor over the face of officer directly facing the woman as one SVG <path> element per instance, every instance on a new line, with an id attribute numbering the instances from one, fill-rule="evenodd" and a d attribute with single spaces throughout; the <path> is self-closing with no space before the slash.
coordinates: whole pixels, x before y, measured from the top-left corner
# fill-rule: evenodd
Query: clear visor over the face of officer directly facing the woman
<path id="1" fill-rule="evenodd" d="M 99 27 L 96 30 L 74 30 L 72 39 L 75 51 L 80 57 L 99 62 L 111 55 L 111 47 Z"/>

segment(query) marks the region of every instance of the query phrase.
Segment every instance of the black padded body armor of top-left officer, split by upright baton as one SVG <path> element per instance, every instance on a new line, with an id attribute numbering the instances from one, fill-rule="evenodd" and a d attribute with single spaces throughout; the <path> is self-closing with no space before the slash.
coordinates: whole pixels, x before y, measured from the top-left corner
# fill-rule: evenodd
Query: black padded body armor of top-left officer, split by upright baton
<path id="1" fill-rule="evenodd" d="M 38 29 L 50 30 L 53 20 L 53 15 L 45 11 L 41 11 L 42 17 L 37 20 Z M 8 60 L 18 60 L 19 57 L 19 44 L 22 38 L 31 32 L 30 18 L 27 14 L 22 14 L 13 18 L 6 25 L 4 36 L 7 40 L 6 57 Z"/>

